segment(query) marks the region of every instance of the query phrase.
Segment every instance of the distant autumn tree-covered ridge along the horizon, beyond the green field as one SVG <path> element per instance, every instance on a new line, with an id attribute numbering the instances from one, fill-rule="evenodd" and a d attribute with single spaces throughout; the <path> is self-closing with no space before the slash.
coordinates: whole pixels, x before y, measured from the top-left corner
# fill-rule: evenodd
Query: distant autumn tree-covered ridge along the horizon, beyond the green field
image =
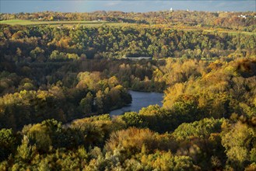
<path id="1" fill-rule="evenodd" d="M 103 20 L 118 23 L 166 24 L 167 26 L 191 26 L 222 28 L 228 30 L 256 31 L 255 12 L 197 12 L 197 11 L 162 11 L 162 12 L 33 12 L 1 13 L 0 20 L 28 19 L 33 21 L 74 21 Z"/>

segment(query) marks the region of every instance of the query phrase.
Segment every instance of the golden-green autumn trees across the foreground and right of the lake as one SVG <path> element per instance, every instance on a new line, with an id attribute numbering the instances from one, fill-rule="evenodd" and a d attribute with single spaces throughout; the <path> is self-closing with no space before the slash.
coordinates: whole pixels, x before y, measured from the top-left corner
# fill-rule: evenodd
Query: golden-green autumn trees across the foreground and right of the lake
<path id="1" fill-rule="evenodd" d="M 256 59 L 168 59 L 161 68 L 164 78 L 174 80 L 167 82 L 163 107 L 87 117 L 69 126 L 44 120 L 18 132 L 2 129 L 0 168 L 256 169 Z"/>

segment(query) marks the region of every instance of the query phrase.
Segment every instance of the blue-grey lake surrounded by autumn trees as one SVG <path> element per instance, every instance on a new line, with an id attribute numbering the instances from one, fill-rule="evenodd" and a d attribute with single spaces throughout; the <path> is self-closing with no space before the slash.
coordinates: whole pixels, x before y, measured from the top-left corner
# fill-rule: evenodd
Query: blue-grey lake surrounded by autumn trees
<path id="1" fill-rule="evenodd" d="M 130 106 L 124 106 L 119 110 L 110 111 L 110 116 L 113 115 L 121 115 L 125 112 L 135 111 L 139 112 L 142 107 L 146 107 L 149 105 L 158 104 L 162 106 L 163 101 L 163 93 L 158 92 L 135 92 L 129 91 L 132 95 L 132 103 Z"/>

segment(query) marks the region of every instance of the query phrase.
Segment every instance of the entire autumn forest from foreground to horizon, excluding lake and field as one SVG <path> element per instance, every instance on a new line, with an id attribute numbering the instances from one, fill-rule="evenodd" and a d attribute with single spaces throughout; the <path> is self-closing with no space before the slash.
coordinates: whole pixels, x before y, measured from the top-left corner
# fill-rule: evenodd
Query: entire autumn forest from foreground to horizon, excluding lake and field
<path id="1" fill-rule="evenodd" d="M 0 14 L 137 23 L 0 24 L 0 170 L 255 170 L 255 14 L 241 14 Z M 110 117 L 129 89 L 163 106 Z"/>

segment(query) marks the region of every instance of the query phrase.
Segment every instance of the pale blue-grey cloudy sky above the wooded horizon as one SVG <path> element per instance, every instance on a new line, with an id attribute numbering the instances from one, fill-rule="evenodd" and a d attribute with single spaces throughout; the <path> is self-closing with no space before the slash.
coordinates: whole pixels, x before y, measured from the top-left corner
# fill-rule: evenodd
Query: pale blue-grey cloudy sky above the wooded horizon
<path id="1" fill-rule="evenodd" d="M 234 11 L 256 12 L 256 0 L 0 0 L 0 12 L 93 12 L 98 10 L 122 12 L 149 12 L 169 10 L 196 10 L 196 11 Z"/>

